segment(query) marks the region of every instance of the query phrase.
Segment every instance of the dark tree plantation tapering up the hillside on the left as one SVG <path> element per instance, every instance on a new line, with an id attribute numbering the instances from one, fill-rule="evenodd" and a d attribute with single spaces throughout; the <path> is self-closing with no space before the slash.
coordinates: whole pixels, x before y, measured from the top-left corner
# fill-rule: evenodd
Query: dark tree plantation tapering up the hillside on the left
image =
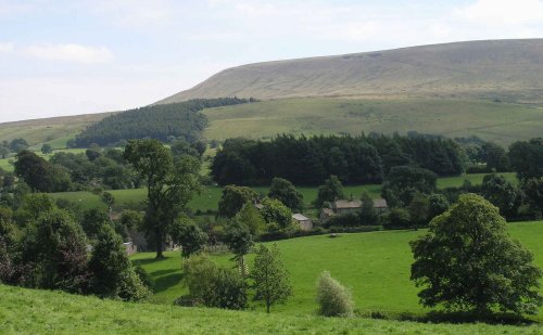
<path id="1" fill-rule="evenodd" d="M 172 137 L 194 142 L 207 126 L 205 115 L 198 112 L 247 102 L 249 101 L 238 98 L 198 99 L 130 109 L 89 126 L 75 138 L 74 144 L 79 147 L 87 147 L 92 143 L 104 146 L 144 138 L 165 142 Z"/>

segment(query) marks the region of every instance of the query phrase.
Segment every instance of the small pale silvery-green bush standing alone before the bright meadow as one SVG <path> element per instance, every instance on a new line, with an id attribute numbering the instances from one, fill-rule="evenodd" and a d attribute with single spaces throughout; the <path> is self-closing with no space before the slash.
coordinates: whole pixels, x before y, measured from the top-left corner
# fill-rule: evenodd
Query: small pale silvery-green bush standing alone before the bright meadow
<path id="1" fill-rule="evenodd" d="M 318 313 L 325 317 L 351 317 L 354 302 L 351 291 L 331 278 L 328 271 L 317 281 Z"/>

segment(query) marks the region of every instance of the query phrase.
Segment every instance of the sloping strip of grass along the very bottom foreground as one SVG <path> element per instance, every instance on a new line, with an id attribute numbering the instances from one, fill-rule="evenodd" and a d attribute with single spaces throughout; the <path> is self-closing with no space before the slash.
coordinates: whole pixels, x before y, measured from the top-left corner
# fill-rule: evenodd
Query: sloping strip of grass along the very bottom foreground
<path id="1" fill-rule="evenodd" d="M 126 304 L 0 285 L 2 334 L 536 334 L 541 326 L 326 319 Z"/>

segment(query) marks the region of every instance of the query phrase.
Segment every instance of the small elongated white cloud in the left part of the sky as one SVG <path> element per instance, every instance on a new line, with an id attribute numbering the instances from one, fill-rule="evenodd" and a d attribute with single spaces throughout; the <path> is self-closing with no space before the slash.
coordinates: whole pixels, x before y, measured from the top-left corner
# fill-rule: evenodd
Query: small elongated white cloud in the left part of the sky
<path id="1" fill-rule="evenodd" d="M 109 63 L 113 53 L 105 47 L 87 47 L 81 44 L 40 44 L 30 46 L 24 53 L 43 60 L 66 61 L 74 63 Z"/>

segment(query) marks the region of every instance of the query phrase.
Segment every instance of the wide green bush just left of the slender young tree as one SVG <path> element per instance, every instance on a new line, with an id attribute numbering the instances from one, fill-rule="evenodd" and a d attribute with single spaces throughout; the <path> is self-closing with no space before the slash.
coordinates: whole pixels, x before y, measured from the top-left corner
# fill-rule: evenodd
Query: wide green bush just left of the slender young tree
<path id="1" fill-rule="evenodd" d="M 218 267 L 206 255 L 191 256 L 184 262 L 186 284 L 193 305 L 227 309 L 247 306 L 247 285 L 231 269 Z M 184 297 L 176 301 L 185 300 Z"/>

